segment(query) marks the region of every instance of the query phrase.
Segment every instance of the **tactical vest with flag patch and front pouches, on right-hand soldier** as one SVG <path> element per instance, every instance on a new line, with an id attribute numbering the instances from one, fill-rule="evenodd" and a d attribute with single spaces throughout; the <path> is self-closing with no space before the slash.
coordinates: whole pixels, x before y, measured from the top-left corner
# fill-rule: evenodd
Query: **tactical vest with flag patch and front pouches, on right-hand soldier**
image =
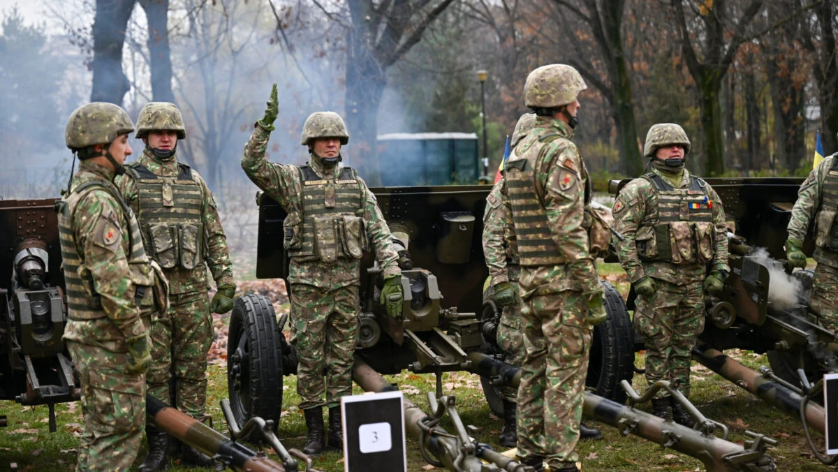
<path id="1" fill-rule="evenodd" d="M 716 247 L 716 226 L 704 180 L 691 176 L 689 189 L 675 189 L 658 174 L 645 174 L 642 179 L 648 180 L 658 194 L 658 218 L 651 224 L 641 223 L 637 231 L 634 241 L 640 260 L 710 262 Z"/>

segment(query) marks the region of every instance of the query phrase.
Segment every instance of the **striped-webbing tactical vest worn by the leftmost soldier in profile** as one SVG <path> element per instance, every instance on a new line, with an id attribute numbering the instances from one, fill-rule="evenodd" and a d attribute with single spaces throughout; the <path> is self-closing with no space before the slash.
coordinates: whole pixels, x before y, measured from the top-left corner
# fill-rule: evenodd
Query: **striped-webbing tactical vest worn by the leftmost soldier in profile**
<path id="1" fill-rule="evenodd" d="M 107 315 L 102 311 L 101 296 L 96 293 L 91 272 L 85 267 L 83 257 L 75 245 L 72 220 L 75 207 L 86 195 L 93 190 L 104 189 L 122 208 L 121 218 L 128 227 L 128 241 L 130 254 L 128 255 L 128 272 L 132 283 L 137 288 L 135 302 L 141 304 L 153 303 L 153 293 L 148 290 L 153 286 L 154 273 L 148 262 L 145 249 L 142 246 L 142 236 L 137 219 L 133 217 L 130 207 L 122 200 L 116 187 L 104 180 L 91 180 L 71 189 L 68 195 L 56 205 L 58 211 L 59 241 L 61 257 L 64 266 L 64 279 L 67 294 L 67 308 L 70 319 L 99 319 Z"/>

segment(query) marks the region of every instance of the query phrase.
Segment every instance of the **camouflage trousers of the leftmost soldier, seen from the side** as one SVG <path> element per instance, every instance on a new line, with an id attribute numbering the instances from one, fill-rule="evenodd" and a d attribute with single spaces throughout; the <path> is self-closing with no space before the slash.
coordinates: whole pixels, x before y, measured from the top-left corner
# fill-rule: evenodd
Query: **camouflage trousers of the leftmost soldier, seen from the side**
<path id="1" fill-rule="evenodd" d="M 81 383 L 85 430 L 75 469 L 127 470 L 137 458 L 146 423 L 146 379 L 125 372 L 127 352 L 67 341 Z"/>

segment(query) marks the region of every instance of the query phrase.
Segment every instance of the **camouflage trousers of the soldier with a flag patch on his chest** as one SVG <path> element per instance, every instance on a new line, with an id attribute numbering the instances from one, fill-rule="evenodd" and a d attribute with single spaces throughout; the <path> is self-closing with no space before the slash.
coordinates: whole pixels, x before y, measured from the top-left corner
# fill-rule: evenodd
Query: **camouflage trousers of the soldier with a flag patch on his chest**
<path id="1" fill-rule="evenodd" d="M 634 323 L 646 347 L 646 381 L 679 381 L 690 395 L 691 351 L 704 330 L 704 293 L 701 281 L 675 285 L 655 279 L 657 292 L 638 297 Z M 660 391 L 656 397 L 669 393 Z"/>

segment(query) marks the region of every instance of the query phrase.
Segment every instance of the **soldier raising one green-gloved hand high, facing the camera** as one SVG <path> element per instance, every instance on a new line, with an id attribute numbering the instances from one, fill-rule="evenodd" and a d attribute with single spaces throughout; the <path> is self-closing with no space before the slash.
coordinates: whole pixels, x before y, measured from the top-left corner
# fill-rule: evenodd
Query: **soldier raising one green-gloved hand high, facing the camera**
<path id="1" fill-rule="evenodd" d="M 354 169 L 340 161 L 349 133 L 335 112 L 315 112 L 303 125 L 303 165 L 270 163 L 268 138 L 277 119 L 277 85 L 265 117 L 245 146 L 241 168 L 287 211 L 285 249 L 296 330 L 297 393 L 306 418 L 303 452 L 323 450 L 323 405 L 328 407 L 328 446 L 343 448 L 340 397 L 352 392 L 352 357 L 359 335 L 360 258 L 370 248 L 384 278 L 381 303 L 401 316 L 401 270 L 392 236 L 375 196 Z M 370 247 L 371 246 L 371 247 Z M 326 382 L 323 382 L 323 371 Z M 326 402 L 323 402 L 323 393 Z"/>

